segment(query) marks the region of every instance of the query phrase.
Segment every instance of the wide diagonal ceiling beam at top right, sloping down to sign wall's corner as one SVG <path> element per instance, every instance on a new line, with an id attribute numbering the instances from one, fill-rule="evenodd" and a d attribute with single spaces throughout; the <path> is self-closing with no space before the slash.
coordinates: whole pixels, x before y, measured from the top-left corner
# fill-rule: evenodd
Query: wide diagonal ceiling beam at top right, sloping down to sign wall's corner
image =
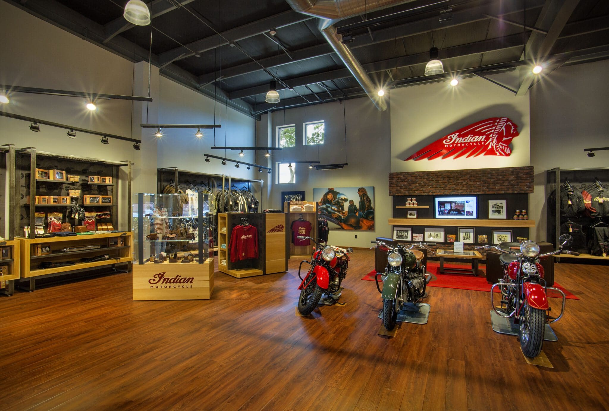
<path id="1" fill-rule="evenodd" d="M 547 0 L 535 24 L 536 27 L 542 29 L 547 27 L 547 35 L 533 32 L 526 44 L 526 56 L 523 55 L 521 60 L 527 57 L 541 61 L 549 55 L 577 4 L 579 4 L 579 0 Z M 520 87 L 516 95 L 526 94 L 534 78 L 535 75 L 530 70 L 521 69 Z"/>

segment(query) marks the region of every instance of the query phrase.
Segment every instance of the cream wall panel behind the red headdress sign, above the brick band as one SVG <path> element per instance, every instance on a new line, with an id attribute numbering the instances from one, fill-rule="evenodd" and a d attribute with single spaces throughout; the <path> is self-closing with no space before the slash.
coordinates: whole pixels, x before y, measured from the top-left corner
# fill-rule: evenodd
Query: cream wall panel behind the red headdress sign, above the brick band
<path id="1" fill-rule="evenodd" d="M 390 91 L 391 171 L 462 170 L 529 165 L 529 97 L 513 93 L 482 78 L 466 78 L 453 87 L 448 81 Z M 520 132 L 509 157 L 479 156 L 429 161 L 404 161 L 453 131 L 489 117 L 508 117 Z"/>

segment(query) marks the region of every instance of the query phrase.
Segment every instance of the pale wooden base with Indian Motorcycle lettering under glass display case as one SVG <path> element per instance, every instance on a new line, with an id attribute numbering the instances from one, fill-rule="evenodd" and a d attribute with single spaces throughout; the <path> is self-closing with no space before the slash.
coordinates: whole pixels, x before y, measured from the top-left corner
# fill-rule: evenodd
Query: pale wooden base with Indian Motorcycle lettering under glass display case
<path id="1" fill-rule="evenodd" d="M 209 300 L 213 292 L 213 257 L 203 264 L 133 264 L 133 300 Z"/>

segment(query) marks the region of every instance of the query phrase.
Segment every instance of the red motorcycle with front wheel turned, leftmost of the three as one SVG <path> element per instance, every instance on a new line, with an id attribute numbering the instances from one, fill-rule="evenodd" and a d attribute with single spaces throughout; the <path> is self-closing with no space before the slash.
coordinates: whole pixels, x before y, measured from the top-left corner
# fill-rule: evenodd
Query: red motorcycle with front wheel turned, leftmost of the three
<path id="1" fill-rule="evenodd" d="M 303 260 L 298 267 L 298 278 L 301 283 L 298 286 L 300 297 L 298 297 L 298 313 L 308 316 L 315 309 L 322 294 L 325 292 L 331 299 L 340 291 L 340 283 L 347 276 L 349 265 L 349 254 L 353 249 L 349 247 L 344 250 L 328 244 L 318 243 L 319 238 L 304 237 L 299 235 L 300 240 L 311 240 L 315 243 L 311 261 Z M 300 271 L 303 264 L 310 264 L 311 268 L 301 277 Z"/>

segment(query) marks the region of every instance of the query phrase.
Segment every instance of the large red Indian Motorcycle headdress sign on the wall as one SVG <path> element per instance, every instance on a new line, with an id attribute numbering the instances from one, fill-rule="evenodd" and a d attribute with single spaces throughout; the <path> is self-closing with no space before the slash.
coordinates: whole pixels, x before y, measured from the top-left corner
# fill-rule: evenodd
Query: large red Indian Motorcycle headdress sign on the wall
<path id="1" fill-rule="evenodd" d="M 518 137 L 518 126 L 507 117 L 491 117 L 460 128 L 427 145 L 404 161 L 434 160 L 462 156 L 502 156 L 512 154 L 510 142 Z"/>

